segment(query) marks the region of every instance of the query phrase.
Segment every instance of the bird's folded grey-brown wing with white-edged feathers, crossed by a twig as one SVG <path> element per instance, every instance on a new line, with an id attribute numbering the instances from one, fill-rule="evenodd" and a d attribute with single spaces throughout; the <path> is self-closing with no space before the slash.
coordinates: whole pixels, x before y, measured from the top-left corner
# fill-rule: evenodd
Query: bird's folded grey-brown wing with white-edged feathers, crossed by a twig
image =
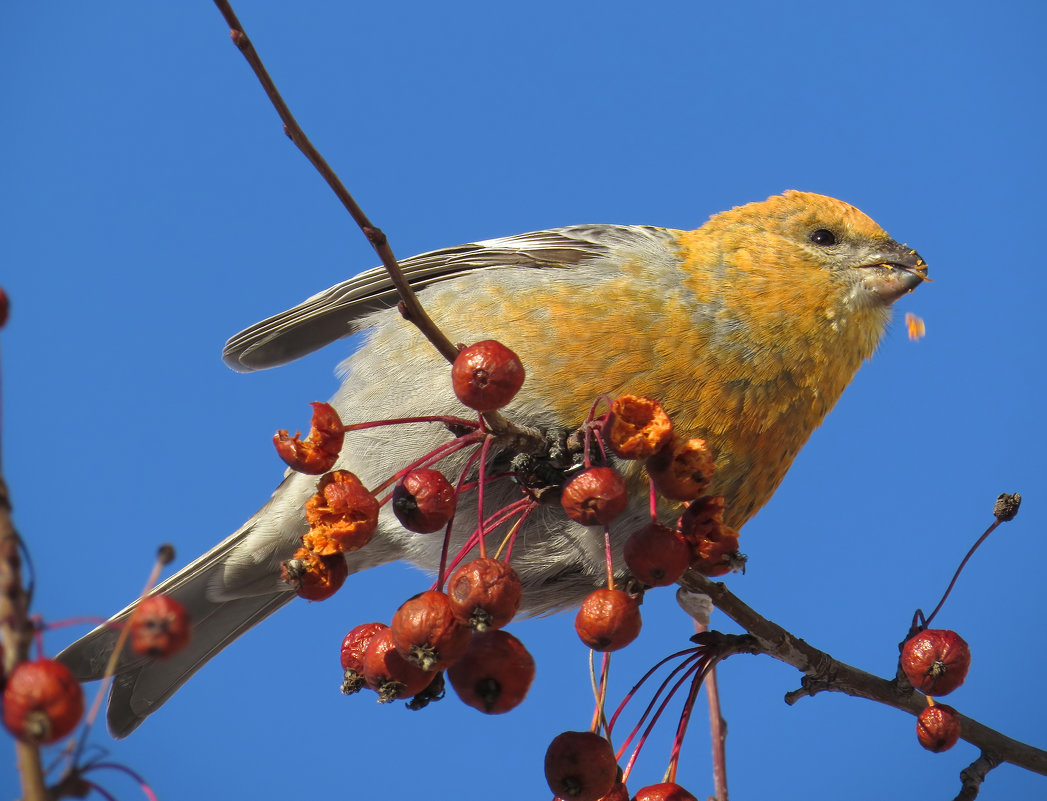
<path id="1" fill-rule="evenodd" d="M 570 268 L 618 246 L 664 238 L 664 229 L 649 226 L 575 225 L 433 250 L 400 262 L 400 268 L 415 289 L 424 289 L 475 270 Z M 361 317 L 396 302 L 388 274 L 376 267 L 241 331 L 225 343 L 222 358 L 241 373 L 286 364 L 353 334 Z"/>

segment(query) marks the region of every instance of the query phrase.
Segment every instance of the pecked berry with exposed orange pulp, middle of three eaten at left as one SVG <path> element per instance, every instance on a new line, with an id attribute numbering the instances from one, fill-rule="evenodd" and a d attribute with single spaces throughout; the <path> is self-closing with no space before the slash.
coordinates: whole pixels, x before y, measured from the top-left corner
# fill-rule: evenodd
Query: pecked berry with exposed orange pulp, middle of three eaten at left
<path id="1" fill-rule="evenodd" d="M 317 554 L 363 548 L 378 530 L 378 500 L 349 470 L 327 473 L 306 502 L 309 532 L 302 538 Z"/>

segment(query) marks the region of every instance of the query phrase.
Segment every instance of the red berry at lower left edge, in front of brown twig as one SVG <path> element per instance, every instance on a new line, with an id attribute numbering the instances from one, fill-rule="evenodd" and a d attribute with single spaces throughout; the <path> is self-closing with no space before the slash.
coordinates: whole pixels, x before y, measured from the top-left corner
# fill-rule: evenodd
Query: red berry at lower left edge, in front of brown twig
<path id="1" fill-rule="evenodd" d="M 21 662 L 3 690 L 3 725 L 24 742 L 46 744 L 65 737 L 84 714 L 84 691 L 61 662 Z"/>

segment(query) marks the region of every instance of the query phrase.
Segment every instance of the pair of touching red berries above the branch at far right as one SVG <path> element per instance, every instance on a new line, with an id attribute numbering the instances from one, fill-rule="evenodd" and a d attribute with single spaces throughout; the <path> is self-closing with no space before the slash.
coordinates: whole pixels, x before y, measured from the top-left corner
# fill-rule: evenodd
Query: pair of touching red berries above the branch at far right
<path id="1" fill-rule="evenodd" d="M 928 751 L 948 751 L 960 738 L 960 713 L 932 695 L 948 695 L 967 676 L 971 649 L 955 631 L 927 628 L 901 646 L 901 670 L 928 706 L 916 718 L 916 738 Z"/>

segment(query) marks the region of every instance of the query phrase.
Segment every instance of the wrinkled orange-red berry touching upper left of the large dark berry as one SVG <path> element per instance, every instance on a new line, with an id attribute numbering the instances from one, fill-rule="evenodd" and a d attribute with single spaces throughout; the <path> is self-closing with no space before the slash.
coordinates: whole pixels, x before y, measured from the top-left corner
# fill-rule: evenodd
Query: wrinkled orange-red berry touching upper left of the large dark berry
<path id="1" fill-rule="evenodd" d="M 447 595 L 436 589 L 404 601 L 391 628 L 400 655 L 429 671 L 454 664 L 469 647 L 472 635 L 454 618 Z"/>

